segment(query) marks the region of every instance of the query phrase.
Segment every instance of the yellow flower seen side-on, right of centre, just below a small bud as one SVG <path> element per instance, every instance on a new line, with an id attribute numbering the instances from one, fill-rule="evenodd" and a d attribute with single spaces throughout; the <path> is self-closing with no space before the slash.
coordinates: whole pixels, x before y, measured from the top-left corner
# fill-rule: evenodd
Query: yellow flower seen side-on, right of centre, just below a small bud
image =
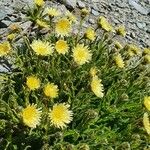
<path id="1" fill-rule="evenodd" d="M 96 76 L 96 75 L 92 77 L 91 90 L 99 98 L 102 98 L 104 96 L 103 84 L 101 83 L 101 79 L 99 79 L 98 76 Z"/>

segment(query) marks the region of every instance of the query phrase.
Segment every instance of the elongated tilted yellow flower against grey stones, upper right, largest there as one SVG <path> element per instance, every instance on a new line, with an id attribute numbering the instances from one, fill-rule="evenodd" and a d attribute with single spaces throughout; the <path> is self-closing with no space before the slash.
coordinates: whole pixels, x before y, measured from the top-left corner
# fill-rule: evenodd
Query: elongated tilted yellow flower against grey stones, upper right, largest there
<path id="1" fill-rule="evenodd" d="M 99 26 L 107 32 L 111 32 L 113 30 L 112 26 L 108 23 L 105 17 L 101 16 L 98 20 Z"/>

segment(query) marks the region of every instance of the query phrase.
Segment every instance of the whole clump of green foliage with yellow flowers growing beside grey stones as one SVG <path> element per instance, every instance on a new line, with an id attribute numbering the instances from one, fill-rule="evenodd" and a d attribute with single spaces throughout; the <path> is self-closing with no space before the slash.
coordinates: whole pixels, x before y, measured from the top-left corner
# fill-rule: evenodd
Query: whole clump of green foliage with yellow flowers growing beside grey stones
<path id="1" fill-rule="evenodd" d="M 148 149 L 149 48 L 116 41 L 125 26 L 104 16 L 81 32 L 86 8 L 77 18 L 34 2 L 34 34 L 11 25 L 0 43 L 12 66 L 0 74 L 0 149 Z"/>

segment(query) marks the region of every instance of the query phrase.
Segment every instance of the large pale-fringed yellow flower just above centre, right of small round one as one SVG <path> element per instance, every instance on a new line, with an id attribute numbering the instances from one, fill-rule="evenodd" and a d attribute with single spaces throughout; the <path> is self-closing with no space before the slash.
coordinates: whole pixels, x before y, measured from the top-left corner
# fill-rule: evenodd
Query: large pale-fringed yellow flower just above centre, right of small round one
<path id="1" fill-rule="evenodd" d="M 78 65 L 83 65 L 92 59 L 92 54 L 84 44 L 77 44 L 73 49 L 73 58 Z"/>

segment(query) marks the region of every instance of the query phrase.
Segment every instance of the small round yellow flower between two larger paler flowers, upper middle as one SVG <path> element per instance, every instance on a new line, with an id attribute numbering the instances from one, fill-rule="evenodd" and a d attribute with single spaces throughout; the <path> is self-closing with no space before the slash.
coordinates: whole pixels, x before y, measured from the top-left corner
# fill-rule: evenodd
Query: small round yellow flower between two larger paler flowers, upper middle
<path id="1" fill-rule="evenodd" d="M 64 40 L 59 40 L 56 42 L 55 49 L 59 54 L 65 54 L 68 52 L 68 44 Z"/>

